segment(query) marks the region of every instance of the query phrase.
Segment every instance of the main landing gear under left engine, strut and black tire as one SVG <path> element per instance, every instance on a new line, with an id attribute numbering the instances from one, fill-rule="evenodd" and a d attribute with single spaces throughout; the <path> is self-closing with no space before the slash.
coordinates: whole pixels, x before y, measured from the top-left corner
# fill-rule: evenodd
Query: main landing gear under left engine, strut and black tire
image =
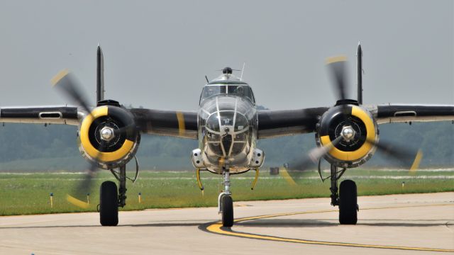
<path id="1" fill-rule="evenodd" d="M 118 225 L 118 207 L 126 205 L 126 165 L 119 171 L 112 171 L 118 180 L 119 188 L 113 181 L 104 181 L 99 192 L 99 221 L 103 226 Z"/>

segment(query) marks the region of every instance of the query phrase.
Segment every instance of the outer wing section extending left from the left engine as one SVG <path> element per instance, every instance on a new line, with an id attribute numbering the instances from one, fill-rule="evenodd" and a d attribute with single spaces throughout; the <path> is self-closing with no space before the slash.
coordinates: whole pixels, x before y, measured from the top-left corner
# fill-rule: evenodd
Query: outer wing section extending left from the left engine
<path id="1" fill-rule="evenodd" d="M 73 106 L 1 107 L 2 123 L 50 123 L 79 125 L 79 112 Z"/>

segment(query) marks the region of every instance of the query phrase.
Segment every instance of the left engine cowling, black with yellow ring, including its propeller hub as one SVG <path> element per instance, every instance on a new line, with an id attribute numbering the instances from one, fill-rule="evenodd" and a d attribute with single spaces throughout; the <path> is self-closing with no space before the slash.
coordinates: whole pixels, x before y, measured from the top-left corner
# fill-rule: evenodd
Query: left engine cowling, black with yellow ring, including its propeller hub
<path id="1" fill-rule="evenodd" d="M 128 163 L 137 152 L 140 133 L 133 115 L 121 106 L 93 109 L 79 128 L 79 150 L 101 169 L 114 169 Z"/>

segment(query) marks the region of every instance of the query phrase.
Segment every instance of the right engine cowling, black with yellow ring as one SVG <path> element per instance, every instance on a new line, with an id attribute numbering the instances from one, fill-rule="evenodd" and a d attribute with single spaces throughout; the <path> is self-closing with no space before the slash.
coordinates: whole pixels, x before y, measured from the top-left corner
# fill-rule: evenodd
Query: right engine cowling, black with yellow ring
<path id="1" fill-rule="evenodd" d="M 348 126 L 354 130 L 353 137 L 341 140 L 324 158 L 330 164 L 351 168 L 367 162 L 376 149 L 372 142 L 378 140 L 377 123 L 365 108 L 351 104 L 330 108 L 317 124 L 316 142 L 329 145 Z"/>

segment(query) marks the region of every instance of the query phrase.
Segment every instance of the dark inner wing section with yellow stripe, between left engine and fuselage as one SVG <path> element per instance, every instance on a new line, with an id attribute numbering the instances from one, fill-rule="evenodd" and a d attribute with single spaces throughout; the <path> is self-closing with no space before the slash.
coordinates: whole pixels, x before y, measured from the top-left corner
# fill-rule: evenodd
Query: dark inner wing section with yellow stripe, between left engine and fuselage
<path id="1" fill-rule="evenodd" d="M 189 111 L 160 111 L 143 108 L 129 109 L 140 132 L 197 139 L 197 113 Z"/>

